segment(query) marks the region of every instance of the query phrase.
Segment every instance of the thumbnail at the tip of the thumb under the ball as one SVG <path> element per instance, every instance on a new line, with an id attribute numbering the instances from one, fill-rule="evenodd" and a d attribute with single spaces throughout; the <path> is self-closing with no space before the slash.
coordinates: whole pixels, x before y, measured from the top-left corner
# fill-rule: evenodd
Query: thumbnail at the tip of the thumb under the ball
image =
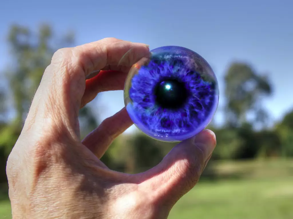
<path id="1" fill-rule="evenodd" d="M 212 154 L 217 144 L 215 134 L 208 129 L 205 129 L 197 136 L 195 136 L 193 142 L 195 146 L 197 146 L 197 148 L 199 148 L 203 152 L 205 161 Z"/>

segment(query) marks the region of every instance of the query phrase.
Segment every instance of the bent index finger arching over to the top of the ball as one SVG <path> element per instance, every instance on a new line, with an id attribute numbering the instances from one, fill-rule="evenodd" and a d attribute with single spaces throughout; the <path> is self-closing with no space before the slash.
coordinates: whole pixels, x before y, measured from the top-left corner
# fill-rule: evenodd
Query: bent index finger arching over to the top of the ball
<path id="1" fill-rule="evenodd" d="M 115 38 L 105 38 L 89 44 L 58 50 L 46 69 L 35 94 L 26 123 L 32 123 L 38 115 L 54 117 L 54 123 L 66 124 L 77 131 L 78 113 L 84 95 L 86 76 L 108 65 L 131 66 L 149 54 L 146 44 L 132 43 Z M 120 63 L 121 64 L 121 63 Z"/>

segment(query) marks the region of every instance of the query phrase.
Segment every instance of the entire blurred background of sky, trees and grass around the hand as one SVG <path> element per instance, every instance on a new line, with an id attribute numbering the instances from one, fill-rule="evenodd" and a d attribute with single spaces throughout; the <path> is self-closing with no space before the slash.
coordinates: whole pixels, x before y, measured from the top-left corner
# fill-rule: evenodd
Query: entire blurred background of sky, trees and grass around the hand
<path id="1" fill-rule="evenodd" d="M 293 2 L 76 2 L 0 3 L 0 218 L 11 218 L 6 160 L 52 54 L 116 37 L 150 49 L 187 47 L 218 77 L 219 108 L 208 127 L 217 147 L 198 185 L 169 218 L 292 219 Z M 82 135 L 123 106 L 123 91 L 98 95 L 80 111 Z M 173 146 L 131 127 L 102 160 L 137 173 L 158 164 Z"/>

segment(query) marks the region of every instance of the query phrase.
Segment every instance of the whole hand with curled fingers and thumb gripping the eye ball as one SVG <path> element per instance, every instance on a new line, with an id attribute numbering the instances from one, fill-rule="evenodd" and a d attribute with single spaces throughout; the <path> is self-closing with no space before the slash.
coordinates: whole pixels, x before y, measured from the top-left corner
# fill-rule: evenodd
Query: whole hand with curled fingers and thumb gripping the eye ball
<path id="1" fill-rule="evenodd" d="M 129 58 L 119 63 L 126 52 Z M 79 109 L 101 91 L 123 90 L 130 66 L 148 54 L 145 44 L 113 38 L 54 54 L 7 161 L 13 218 L 167 218 L 194 187 L 216 145 L 209 130 L 133 175 L 99 160 L 132 125 L 125 108 L 80 140 Z"/>

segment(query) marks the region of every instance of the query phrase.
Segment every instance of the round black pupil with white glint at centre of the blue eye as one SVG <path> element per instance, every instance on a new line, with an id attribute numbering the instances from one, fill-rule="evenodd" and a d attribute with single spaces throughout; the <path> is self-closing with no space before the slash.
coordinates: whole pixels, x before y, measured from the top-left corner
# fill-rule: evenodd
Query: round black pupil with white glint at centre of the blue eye
<path id="1" fill-rule="evenodd" d="M 155 88 L 156 103 L 162 108 L 176 109 L 183 106 L 188 91 L 185 84 L 177 80 L 161 81 Z"/>

